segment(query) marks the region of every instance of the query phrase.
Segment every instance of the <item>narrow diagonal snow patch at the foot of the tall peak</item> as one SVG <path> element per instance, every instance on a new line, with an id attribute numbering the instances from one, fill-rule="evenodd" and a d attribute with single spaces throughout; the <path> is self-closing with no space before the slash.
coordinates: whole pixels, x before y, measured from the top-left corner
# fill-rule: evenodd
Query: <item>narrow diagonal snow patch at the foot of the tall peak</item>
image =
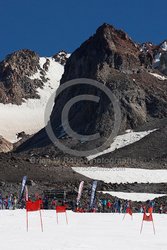
<path id="1" fill-rule="evenodd" d="M 123 148 L 125 146 L 128 146 L 134 142 L 137 142 L 139 140 L 141 140 L 142 138 L 144 138 L 145 136 L 149 135 L 150 133 L 154 132 L 156 129 L 154 130 L 148 130 L 148 131 L 142 131 L 142 132 L 134 132 L 132 130 L 127 130 L 126 134 L 123 135 L 118 135 L 115 139 L 114 142 L 111 144 L 110 148 L 99 152 L 97 154 L 94 155 L 90 155 L 87 157 L 88 160 L 92 160 L 94 158 L 96 158 L 97 156 L 100 155 L 104 155 L 110 152 L 115 151 L 118 148 Z"/>

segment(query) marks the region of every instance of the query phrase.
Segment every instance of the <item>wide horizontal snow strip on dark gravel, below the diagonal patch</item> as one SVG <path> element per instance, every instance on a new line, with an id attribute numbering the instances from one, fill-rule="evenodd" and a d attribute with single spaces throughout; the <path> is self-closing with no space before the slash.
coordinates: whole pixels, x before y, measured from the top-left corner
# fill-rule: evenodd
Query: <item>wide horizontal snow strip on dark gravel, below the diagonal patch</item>
<path id="1" fill-rule="evenodd" d="M 73 167 L 73 170 L 106 183 L 167 183 L 165 169 Z"/>

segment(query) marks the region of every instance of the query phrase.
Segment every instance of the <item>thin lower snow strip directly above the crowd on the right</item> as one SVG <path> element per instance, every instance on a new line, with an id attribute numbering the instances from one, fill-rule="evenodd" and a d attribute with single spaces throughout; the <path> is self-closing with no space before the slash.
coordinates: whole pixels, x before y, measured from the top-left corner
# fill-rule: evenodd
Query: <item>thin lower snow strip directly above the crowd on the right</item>
<path id="1" fill-rule="evenodd" d="M 167 195 L 167 194 L 151 194 L 151 193 L 126 193 L 126 192 L 115 192 L 115 191 L 102 191 L 102 193 L 110 194 L 114 197 L 131 201 L 147 201 Z"/>

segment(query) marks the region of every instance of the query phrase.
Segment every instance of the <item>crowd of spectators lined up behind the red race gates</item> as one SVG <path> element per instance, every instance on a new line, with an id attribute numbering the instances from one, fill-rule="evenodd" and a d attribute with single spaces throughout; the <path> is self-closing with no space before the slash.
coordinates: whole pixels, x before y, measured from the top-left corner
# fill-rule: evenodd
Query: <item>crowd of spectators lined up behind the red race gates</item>
<path id="1" fill-rule="evenodd" d="M 29 197 L 31 199 L 31 197 Z M 90 208 L 89 203 L 81 203 L 75 200 L 65 201 L 57 200 L 56 197 L 50 199 L 47 196 L 35 197 L 35 199 L 42 200 L 42 209 L 55 209 L 57 205 L 66 205 L 67 209 L 71 209 L 74 212 L 100 212 L 100 213 L 125 213 L 127 208 L 131 209 L 133 212 L 143 213 L 144 211 L 152 212 L 155 211 L 155 201 L 150 200 L 147 203 L 137 203 L 137 206 L 132 205 L 132 201 L 125 200 L 122 201 L 118 198 L 112 202 L 110 199 L 95 199 L 94 205 Z M 0 193 L 0 209 L 23 209 L 26 206 L 25 198 L 18 198 L 17 195 L 10 194 L 9 196 L 3 197 Z M 156 206 L 156 212 L 167 213 L 165 206 L 160 204 Z"/>

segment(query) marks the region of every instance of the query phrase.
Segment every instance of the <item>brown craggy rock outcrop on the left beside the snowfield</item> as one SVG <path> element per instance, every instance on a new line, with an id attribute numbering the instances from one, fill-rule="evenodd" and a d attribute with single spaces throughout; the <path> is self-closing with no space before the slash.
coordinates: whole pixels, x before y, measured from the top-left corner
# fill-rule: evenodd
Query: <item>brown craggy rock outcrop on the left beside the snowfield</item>
<path id="1" fill-rule="evenodd" d="M 39 69 L 39 56 L 30 50 L 20 50 L 8 55 L 0 63 L 0 102 L 21 104 L 23 98 L 38 98 L 36 88 L 40 80 L 31 80 Z"/>

